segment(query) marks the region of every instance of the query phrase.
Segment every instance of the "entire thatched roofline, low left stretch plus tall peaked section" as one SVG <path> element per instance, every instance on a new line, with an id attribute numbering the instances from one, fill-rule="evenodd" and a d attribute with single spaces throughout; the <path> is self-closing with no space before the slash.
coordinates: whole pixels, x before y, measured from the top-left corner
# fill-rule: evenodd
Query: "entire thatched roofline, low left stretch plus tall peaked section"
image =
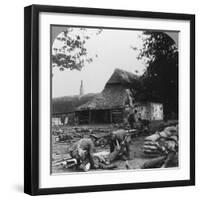
<path id="1" fill-rule="evenodd" d="M 92 93 L 81 97 L 75 95 L 54 98 L 52 101 L 52 113 L 56 115 L 76 110 L 123 107 L 127 98 L 126 89 L 138 86 L 140 86 L 138 76 L 121 69 L 115 69 L 100 94 Z"/>

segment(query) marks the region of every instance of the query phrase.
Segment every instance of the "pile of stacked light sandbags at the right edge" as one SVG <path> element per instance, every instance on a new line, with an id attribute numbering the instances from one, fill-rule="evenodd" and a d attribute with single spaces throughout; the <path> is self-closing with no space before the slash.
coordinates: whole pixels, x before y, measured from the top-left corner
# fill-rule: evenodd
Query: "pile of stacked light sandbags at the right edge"
<path id="1" fill-rule="evenodd" d="M 166 127 L 145 138 L 143 152 L 151 156 L 160 156 L 168 150 L 175 150 L 178 145 L 178 126 Z"/>

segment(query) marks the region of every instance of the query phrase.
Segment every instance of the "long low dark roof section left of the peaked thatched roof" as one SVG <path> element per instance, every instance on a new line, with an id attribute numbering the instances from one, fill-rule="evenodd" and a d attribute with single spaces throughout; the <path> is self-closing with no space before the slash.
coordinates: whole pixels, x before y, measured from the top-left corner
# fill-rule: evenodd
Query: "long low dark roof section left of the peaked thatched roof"
<path id="1" fill-rule="evenodd" d="M 83 96 L 65 96 L 57 97 L 52 100 L 52 113 L 56 114 L 66 114 L 74 112 L 77 107 L 93 99 L 97 93 L 90 93 Z"/>

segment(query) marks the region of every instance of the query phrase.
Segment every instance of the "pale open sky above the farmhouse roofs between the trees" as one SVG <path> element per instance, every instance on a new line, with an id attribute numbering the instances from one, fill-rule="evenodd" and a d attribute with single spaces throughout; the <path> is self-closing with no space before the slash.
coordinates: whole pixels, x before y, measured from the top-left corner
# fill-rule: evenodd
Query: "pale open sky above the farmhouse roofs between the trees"
<path id="1" fill-rule="evenodd" d="M 96 31 L 89 30 L 91 34 Z M 56 67 L 53 68 L 53 97 L 78 95 L 81 80 L 85 94 L 101 92 L 115 68 L 133 73 L 138 70 L 139 74 L 143 73 L 144 61 L 138 60 L 138 51 L 131 48 L 142 47 L 142 39 L 139 37 L 142 31 L 103 29 L 101 34 L 92 35 L 85 44 L 88 55 L 94 57 L 92 63 L 86 63 L 81 71 L 60 71 Z M 61 42 L 55 39 L 52 48 L 61 46 Z M 96 54 L 98 57 L 95 57 Z"/>

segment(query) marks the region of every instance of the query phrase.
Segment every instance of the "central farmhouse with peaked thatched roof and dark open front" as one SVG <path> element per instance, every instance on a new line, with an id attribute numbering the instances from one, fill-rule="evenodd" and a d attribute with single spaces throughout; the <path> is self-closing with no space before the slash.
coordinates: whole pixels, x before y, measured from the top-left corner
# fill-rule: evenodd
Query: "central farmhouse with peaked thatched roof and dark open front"
<path id="1" fill-rule="evenodd" d="M 138 76 L 115 69 L 103 91 L 76 109 L 75 115 L 78 123 L 124 122 L 129 109 L 133 108 L 133 90 L 139 87 L 141 87 L 141 83 Z"/>

